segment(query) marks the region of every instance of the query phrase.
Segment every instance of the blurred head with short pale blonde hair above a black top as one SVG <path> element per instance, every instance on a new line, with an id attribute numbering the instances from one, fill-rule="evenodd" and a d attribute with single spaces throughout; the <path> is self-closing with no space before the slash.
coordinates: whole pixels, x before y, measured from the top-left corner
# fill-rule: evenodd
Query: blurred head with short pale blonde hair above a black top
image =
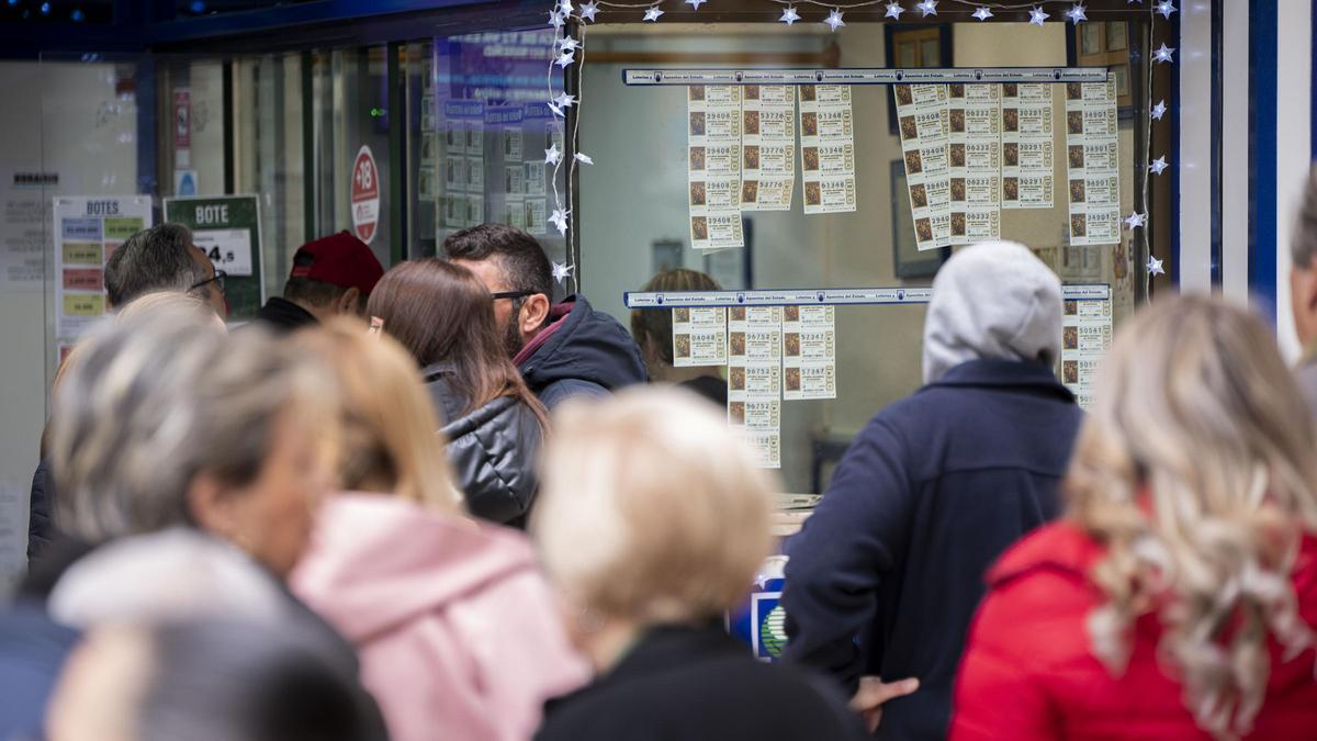
<path id="1" fill-rule="evenodd" d="M 774 479 L 715 410 L 674 388 L 574 401 L 554 418 L 532 531 L 569 604 L 702 622 L 768 556 Z"/>

